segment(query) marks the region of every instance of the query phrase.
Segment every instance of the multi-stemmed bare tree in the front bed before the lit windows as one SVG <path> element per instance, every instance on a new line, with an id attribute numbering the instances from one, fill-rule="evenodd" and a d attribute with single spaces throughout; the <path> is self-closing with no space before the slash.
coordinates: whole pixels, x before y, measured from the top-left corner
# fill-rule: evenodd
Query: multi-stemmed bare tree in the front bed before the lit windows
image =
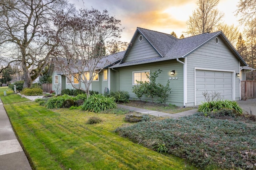
<path id="1" fill-rule="evenodd" d="M 104 55 L 118 45 L 122 29 L 120 20 L 109 16 L 108 11 L 96 9 L 79 10 L 76 15 L 56 18 L 55 26 L 62 28 L 56 41 L 54 67 L 58 67 L 72 87 L 86 91 L 89 97 L 90 84 L 111 61 Z M 74 82 L 84 85 L 76 85 Z"/>

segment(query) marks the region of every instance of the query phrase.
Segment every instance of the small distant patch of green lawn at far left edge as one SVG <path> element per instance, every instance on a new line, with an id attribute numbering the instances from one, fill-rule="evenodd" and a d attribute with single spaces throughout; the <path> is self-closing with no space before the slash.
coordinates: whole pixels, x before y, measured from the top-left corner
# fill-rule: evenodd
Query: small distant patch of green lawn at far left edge
<path id="1" fill-rule="evenodd" d="M 6 91 L 6 96 L 4 96 L 4 91 Z M 12 89 L 8 89 L 8 87 L 1 87 L 0 88 L 0 97 L 2 102 L 5 104 L 10 103 L 18 103 L 18 102 L 24 102 L 24 101 L 30 101 L 27 98 L 21 98 L 20 95 L 14 94 Z"/>

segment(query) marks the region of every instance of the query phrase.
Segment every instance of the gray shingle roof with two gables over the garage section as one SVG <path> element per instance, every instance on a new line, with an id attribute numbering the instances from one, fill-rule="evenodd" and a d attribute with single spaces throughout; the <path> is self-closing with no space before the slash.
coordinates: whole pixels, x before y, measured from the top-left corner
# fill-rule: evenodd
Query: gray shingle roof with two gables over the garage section
<path id="1" fill-rule="evenodd" d="M 147 41 L 152 45 L 152 47 L 156 50 L 159 54 L 159 57 L 154 57 L 150 59 L 142 59 L 139 61 L 130 61 L 124 63 L 124 58 L 127 56 L 130 45 L 134 42 L 135 37 L 141 34 Z M 202 47 L 205 43 L 209 42 L 210 40 L 220 37 L 229 49 L 234 53 L 237 59 L 241 62 L 241 65 L 246 66 L 247 63 L 241 57 L 241 55 L 236 51 L 233 45 L 229 42 L 228 38 L 223 34 L 222 31 L 214 32 L 214 33 L 204 33 L 199 34 L 196 36 L 178 39 L 170 34 L 165 34 L 161 32 L 156 32 L 152 30 L 147 30 L 144 28 L 137 28 L 134 36 L 128 46 L 126 52 L 124 53 L 124 57 L 120 61 L 118 65 L 113 67 L 122 67 L 128 65 L 137 65 L 143 63 L 152 63 L 156 61 L 164 61 L 170 59 L 177 59 L 177 58 L 185 58 L 190 53 L 194 52 L 196 49 Z"/>

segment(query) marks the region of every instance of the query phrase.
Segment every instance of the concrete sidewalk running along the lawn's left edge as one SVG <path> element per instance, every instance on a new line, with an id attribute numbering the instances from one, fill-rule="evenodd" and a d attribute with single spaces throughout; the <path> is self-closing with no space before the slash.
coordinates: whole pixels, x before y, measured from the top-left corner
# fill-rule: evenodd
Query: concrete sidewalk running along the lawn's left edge
<path id="1" fill-rule="evenodd" d="M 0 169 L 31 170 L 0 99 Z"/>

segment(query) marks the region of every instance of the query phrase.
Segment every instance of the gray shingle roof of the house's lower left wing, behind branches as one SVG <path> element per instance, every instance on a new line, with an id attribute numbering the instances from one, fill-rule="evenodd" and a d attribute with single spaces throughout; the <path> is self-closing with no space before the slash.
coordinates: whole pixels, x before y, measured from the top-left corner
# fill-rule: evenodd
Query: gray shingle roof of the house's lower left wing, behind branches
<path id="1" fill-rule="evenodd" d="M 105 55 L 100 61 L 98 62 L 96 69 L 106 69 L 116 63 L 119 63 L 122 57 L 124 56 L 125 51 L 117 52 L 110 55 Z M 78 61 L 78 65 L 79 65 Z M 52 58 L 52 61 L 50 63 L 50 69 L 48 72 L 48 75 L 52 74 L 53 71 L 55 71 L 57 74 L 63 75 L 62 73 L 62 67 L 67 67 L 68 65 L 71 65 L 70 68 L 72 68 L 73 73 L 77 73 L 78 70 L 75 69 L 74 63 L 68 63 L 68 60 L 66 58 L 61 57 L 54 57 Z M 84 68 L 84 71 L 89 71 L 88 68 Z"/>

